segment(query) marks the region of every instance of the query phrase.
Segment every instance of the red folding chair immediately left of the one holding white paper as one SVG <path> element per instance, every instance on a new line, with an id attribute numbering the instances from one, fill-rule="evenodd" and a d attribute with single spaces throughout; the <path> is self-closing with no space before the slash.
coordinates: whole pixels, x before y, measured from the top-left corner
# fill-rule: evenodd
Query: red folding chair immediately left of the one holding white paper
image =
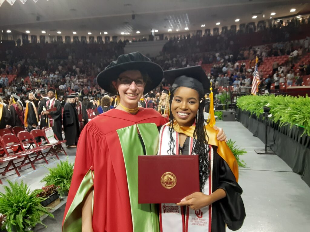
<path id="1" fill-rule="evenodd" d="M 44 146 L 44 147 L 41 146 L 40 147 L 38 145 L 37 141 L 34 139 L 34 137 L 28 131 L 20 131 L 17 134 L 17 138 L 20 140 L 23 151 L 33 151 L 37 154 L 36 157 L 34 157 L 34 159 L 33 159 L 33 163 L 35 161 L 44 159 L 44 161 L 48 164 L 45 157 L 48 154 L 50 154 L 52 151 L 50 149 L 48 152 L 43 153 L 43 150 L 50 148 L 51 146 Z M 44 156 L 44 154 L 45 154 L 45 156 Z"/>

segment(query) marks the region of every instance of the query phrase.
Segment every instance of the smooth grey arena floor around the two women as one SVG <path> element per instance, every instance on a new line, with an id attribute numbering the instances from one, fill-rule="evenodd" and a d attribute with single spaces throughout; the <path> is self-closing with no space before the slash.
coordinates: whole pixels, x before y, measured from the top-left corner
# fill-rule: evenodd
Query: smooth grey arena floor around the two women
<path id="1" fill-rule="evenodd" d="M 277 155 L 258 155 L 255 148 L 263 148 L 264 144 L 242 126 L 240 122 L 216 123 L 223 127 L 228 139 L 236 141 L 236 145 L 244 148 L 248 153 L 241 156 L 246 162 L 246 168 L 239 169 L 239 184 L 243 188 L 242 199 L 246 208 L 246 219 L 240 232 L 306 232 L 310 231 L 310 188 L 300 176 L 293 173 Z M 285 141 L 283 141 L 285 142 Z M 75 149 L 69 151 L 74 155 Z M 74 161 L 74 156 L 68 159 Z M 64 160 L 67 157 L 60 156 Z M 55 166 L 53 159 L 48 167 Z M 47 173 L 43 166 L 36 165 L 37 170 L 31 168 L 21 172 L 22 177 L 8 173 L 7 179 L 12 181 L 24 180 L 31 189 L 41 188 L 39 181 Z M 2 178 L 5 183 L 5 179 Z M 3 187 L 0 186 L 0 191 Z M 37 226 L 35 231 L 61 231 L 64 206 L 54 213 L 55 219 L 49 217 L 43 220 L 48 227 Z M 231 231 L 227 229 L 226 231 Z"/>

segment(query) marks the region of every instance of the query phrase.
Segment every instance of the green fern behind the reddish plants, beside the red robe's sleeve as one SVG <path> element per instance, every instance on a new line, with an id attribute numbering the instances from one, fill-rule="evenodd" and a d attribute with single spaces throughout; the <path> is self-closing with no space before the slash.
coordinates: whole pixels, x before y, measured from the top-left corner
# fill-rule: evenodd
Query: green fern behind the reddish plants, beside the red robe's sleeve
<path id="1" fill-rule="evenodd" d="M 59 193 L 63 195 L 64 192 L 69 191 L 71 185 L 71 179 L 73 175 L 73 163 L 66 161 L 60 161 L 56 167 L 47 168 L 49 173 L 41 180 L 46 185 L 59 186 Z"/>

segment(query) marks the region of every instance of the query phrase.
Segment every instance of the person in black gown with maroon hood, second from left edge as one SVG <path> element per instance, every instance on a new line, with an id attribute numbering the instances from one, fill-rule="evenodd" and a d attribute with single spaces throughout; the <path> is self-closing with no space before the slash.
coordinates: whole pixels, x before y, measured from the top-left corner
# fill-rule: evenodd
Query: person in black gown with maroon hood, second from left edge
<path id="1" fill-rule="evenodd" d="M 20 103 L 17 102 L 20 97 L 16 94 L 12 94 L 10 98 L 10 125 L 11 127 L 24 128 L 24 111 Z"/>

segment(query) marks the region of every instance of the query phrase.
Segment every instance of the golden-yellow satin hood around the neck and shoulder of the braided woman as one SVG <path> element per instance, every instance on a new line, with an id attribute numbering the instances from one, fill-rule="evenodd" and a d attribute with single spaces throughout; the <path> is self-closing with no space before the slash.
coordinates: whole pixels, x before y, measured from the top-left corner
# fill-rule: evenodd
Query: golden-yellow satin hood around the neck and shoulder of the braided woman
<path id="1" fill-rule="evenodd" d="M 167 123 L 169 125 L 170 122 Z M 190 127 L 181 127 L 176 120 L 173 122 L 173 128 L 176 132 L 187 135 L 189 137 L 194 137 L 194 130 L 195 130 L 195 125 L 190 126 Z M 213 128 L 210 127 L 209 125 L 206 125 L 206 132 L 209 137 L 209 139 L 206 137 L 206 140 L 208 141 L 209 145 L 213 145 L 218 147 L 217 148 L 217 153 L 219 154 L 220 157 L 222 157 L 226 163 L 228 164 L 229 168 L 232 170 L 232 173 L 234 174 L 236 181 L 238 182 L 238 163 L 234 155 L 232 154 L 231 150 L 227 146 L 227 144 L 223 141 L 219 141 L 216 138 L 217 131 Z"/>

